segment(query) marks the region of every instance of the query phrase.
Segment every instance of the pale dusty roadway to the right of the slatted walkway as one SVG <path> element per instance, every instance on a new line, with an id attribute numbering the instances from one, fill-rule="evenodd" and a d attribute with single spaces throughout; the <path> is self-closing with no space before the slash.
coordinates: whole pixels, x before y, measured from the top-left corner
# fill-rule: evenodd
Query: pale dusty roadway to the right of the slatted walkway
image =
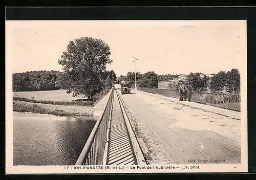
<path id="1" fill-rule="evenodd" d="M 139 91 L 121 98 L 148 164 L 241 163 L 240 120 Z"/>

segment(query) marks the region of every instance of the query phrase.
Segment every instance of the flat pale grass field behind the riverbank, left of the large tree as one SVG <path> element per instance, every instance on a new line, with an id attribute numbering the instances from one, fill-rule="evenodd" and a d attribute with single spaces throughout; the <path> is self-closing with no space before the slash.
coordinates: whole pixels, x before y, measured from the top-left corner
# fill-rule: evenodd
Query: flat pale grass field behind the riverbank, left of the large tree
<path id="1" fill-rule="evenodd" d="M 72 101 L 84 99 L 84 97 L 72 97 L 72 94 L 67 94 L 66 91 L 66 89 L 59 89 L 54 91 L 13 92 L 13 97 L 45 101 Z"/>

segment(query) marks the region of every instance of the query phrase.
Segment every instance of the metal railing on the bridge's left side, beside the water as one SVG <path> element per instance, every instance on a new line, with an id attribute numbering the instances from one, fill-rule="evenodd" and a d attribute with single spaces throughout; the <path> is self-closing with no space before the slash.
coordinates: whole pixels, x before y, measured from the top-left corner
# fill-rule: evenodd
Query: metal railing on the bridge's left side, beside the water
<path id="1" fill-rule="evenodd" d="M 114 88 L 75 165 L 102 165 Z"/>

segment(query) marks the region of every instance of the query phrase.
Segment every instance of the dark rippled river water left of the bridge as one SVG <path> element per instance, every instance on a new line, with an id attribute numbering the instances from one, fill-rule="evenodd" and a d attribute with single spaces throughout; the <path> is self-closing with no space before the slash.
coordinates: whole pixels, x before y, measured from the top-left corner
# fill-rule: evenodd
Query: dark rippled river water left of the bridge
<path id="1" fill-rule="evenodd" d="M 13 114 L 13 165 L 74 165 L 94 117 Z"/>

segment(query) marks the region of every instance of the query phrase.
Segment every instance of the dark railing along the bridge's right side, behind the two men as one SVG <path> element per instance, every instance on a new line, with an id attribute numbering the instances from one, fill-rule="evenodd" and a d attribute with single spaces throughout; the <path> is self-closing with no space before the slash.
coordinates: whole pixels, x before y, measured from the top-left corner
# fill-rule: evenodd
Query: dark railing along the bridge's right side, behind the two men
<path id="1" fill-rule="evenodd" d="M 164 95 L 167 97 L 180 98 L 179 92 L 171 89 L 138 87 L 138 90 L 148 92 L 148 93 Z M 236 111 L 241 110 L 240 95 L 193 92 L 191 96 L 191 101 L 202 103 L 202 104 L 208 104 L 208 105 L 216 106 L 220 108 L 230 109 L 230 110 L 236 110 Z"/>

